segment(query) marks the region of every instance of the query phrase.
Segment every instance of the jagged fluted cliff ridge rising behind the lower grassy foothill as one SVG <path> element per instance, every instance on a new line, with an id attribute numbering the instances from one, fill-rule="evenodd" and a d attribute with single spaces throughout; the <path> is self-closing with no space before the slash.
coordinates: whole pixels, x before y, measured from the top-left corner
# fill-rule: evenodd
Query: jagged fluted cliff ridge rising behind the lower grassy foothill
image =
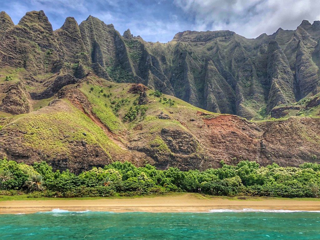
<path id="1" fill-rule="evenodd" d="M 60 29 L 43 11 L 28 12 L 14 25 L 0 13 L 0 66 L 34 74 L 87 72 L 108 81 L 147 87 L 213 112 L 263 118 L 279 104 L 320 91 L 319 21 L 296 30 L 278 29 L 246 39 L 231 31 L 184 31 L 167 44 L 145 42 L 130 30 L 89 16 L 68 17 Z M 261 115 L 262 114 L 262 115 Z"/>

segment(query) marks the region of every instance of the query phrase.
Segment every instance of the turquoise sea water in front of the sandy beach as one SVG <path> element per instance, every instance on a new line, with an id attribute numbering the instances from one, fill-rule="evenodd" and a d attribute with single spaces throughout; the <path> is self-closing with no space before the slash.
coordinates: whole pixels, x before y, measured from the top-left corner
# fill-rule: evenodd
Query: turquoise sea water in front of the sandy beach
<path id="1" fill-rule="evenodd" d="M 0 215 L 1 240 L 320 239 L 319 212 L 111 213 Z"/>

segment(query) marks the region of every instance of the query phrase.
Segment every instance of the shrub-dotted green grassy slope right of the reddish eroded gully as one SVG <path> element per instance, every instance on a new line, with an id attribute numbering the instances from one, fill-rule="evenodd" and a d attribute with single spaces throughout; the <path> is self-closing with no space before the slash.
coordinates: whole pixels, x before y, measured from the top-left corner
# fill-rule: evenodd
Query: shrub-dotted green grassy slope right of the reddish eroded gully
<path id="1" fill-rule="evenodd" d="M 190 118 L 197 118 L 197 111 L 218 115 L 197 108 L 170 95 L 162 95 L 161 97 L 149 95 L 154 93 L 154 91 L 148 90 L 148 103 L 146 105 L 148 109 L 145 115 L 141 115 L 141 112 L 139 112 L 135 120 L 124 120 L 125 114 L 129 112 L 131 107 L 135 107 L 134 103 L 135 101 L 137 103 L 139 99 L 139 94 L 128 92 L 131 86 L 132 84 L 115 84 L 107 82 L 105 86 L 99 87 L 84 83 L 81 87 L 81 91 L 87 96 L 91 103 L 92 112 L 95 113 L 101 122 L 103 122 L 112 132 L 119 133 L 126 131 L 127 136 L 130 139 L 134 139 L 137 135 L 141 135 L 143 136 L 143 144 L 157 144 L 159 145 L 158 149 L 161 151 L 170 151 L 163 140 L 158 136 L 162 128 L 175 128 L 189 131 L 182 122 L 174 119 L 187 118 L 189 120 Z M 91 87 L 93 87 L 93 90 L 90 90 Z M 101 90 L 103 90 L 103 92 L 101 92 Z M 174 105 L 172 106 L 169 103 L 164 103 L 163 98 L 172 99 L 172 101 L 175 101 Z M 126 99 L 126 102 L 121 104 L 118 111 L 115 111 L 116 104 L 124 99 Z M 161 103 L 159 102 L 160 99 L 162 99 Z M 160 112 L 169 114 L 173 116 L 174 119 L 159 119 L 157 115 Z M 135 131 L 134 129 L 136 127 L 139 127 L 140 130 Z"/>

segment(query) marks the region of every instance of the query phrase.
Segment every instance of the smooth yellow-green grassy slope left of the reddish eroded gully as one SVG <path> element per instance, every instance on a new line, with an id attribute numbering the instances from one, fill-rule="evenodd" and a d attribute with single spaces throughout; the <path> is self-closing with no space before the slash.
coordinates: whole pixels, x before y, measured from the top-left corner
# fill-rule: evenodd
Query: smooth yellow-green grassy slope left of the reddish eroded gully
<path id="1" fill-rule="evenodd" d="M 75 141 L 99 145 L 106 153 L 110 150 L 120 150 L 120 147 L 114 144 L 99 126 L 68 100 L 63 100 L 59 107 L 61 110 L 59 108 L 43 109 L 12 116 L 8 119 L 11 124 L 4 125 L 3 129 L 10 132 L 18 125 L 19 131 L 25 133 L 21 145 L 43 150 L 51 156 L 61 153 L 69 154 L 70 147 Z"/>

